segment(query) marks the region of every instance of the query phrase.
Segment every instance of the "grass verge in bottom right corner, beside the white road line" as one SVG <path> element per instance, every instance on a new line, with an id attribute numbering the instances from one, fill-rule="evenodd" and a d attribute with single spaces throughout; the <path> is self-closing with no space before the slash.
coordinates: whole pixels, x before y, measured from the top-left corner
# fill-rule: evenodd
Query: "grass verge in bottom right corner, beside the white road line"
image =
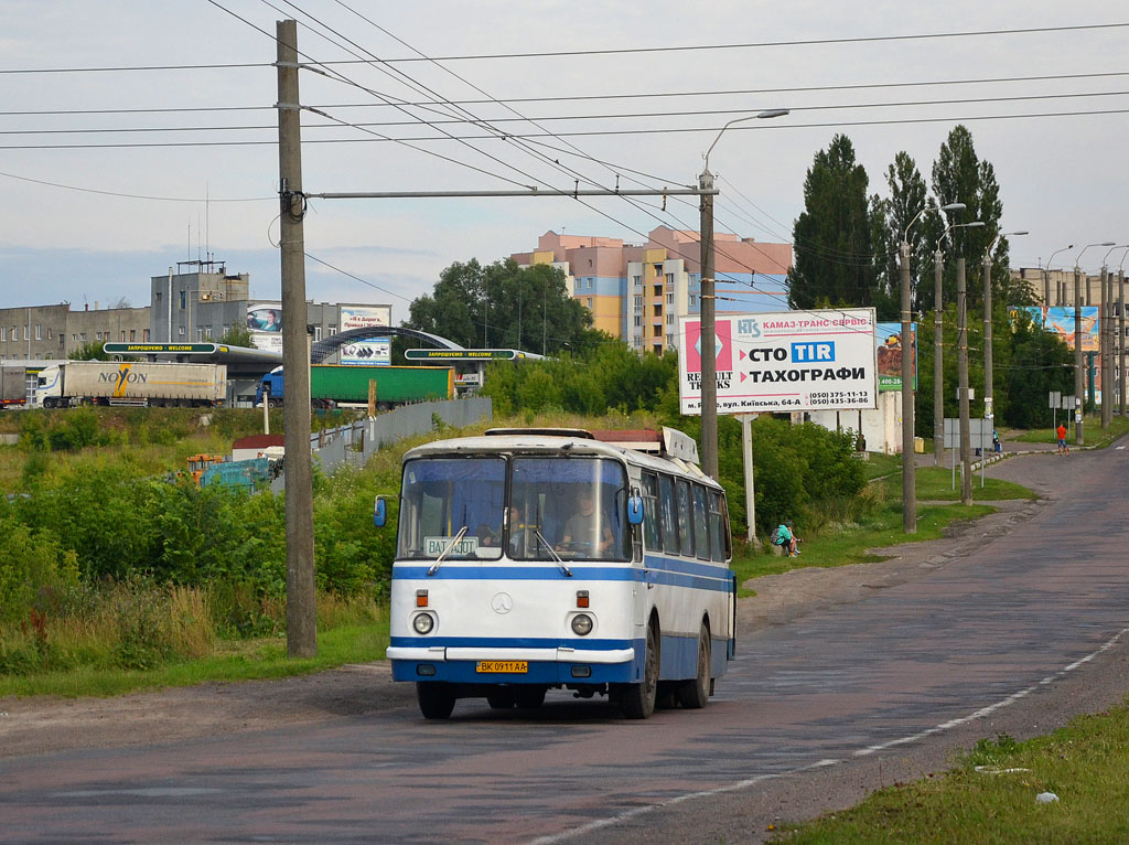
<path id="1" fill-rule="evenodd" d="M 1127 842 L 1127 782 L 1122 704 L 1027 742 L 981 740 L 940 777 L 881 790 L 844 812 L 784 828 L 773 842 Z M 1038 803 L 1043 792 L 1059 800 Z"/>

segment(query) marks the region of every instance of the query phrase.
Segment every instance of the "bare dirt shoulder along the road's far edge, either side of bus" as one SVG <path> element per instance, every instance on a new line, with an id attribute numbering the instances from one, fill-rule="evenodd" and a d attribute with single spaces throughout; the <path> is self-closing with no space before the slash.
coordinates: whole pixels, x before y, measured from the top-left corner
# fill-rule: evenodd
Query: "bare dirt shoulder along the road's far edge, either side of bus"
<path id="1" fill-rule="evenodd" d="M 1051 499 L 1054 494 L 1044 482 L 1045 467 L 1038 465 L 1048 460 L 1054 459 L 1006 461 L 1005 465 L 1012 464 L 1007 476 Z M 928 575 L 1014 530 L 1048 500 L 994 504 L 997 513 L 956 523 L 940 540 L 874 550 L 890 555 L 890 560 L 758 578 L 756 596 L 739 602 L 738 630 L 785 625 L 821 608 L 859 601 L 875 590 Z M 0 757 L 186 741 L 414 706 L 414 700 L 411 685 L 392 682 L 385 662 L 300 678 L 204 683 L 117 698 L 0 698 Z"/>

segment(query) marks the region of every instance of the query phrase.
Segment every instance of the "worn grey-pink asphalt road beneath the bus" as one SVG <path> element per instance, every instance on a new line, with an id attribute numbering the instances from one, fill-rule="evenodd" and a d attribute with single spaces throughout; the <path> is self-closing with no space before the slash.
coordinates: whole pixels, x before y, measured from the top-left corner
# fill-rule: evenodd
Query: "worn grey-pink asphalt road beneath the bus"
<path id="1" fill-rule="evenodd" d="M 0 840 L 736 843 L 1129 690 L 1129 450 L 989 474 L 1053 498 L 922 577 L 744 636 L 704 711 L 550 694 L 0 760 Z"/>

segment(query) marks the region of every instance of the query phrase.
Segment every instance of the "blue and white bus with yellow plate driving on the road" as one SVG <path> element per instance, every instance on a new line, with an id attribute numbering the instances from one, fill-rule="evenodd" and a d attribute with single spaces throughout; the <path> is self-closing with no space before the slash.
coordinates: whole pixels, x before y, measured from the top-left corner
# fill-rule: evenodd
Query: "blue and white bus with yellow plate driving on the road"
<path id="1" fill-rule="evenodd" d="M 426 717 L 566 688 L 646 718 L 704 706 L 725 673 L 725 490 L 680 432 L 596 434 L 492 429 L 404 455 L 387 655 Z"/>

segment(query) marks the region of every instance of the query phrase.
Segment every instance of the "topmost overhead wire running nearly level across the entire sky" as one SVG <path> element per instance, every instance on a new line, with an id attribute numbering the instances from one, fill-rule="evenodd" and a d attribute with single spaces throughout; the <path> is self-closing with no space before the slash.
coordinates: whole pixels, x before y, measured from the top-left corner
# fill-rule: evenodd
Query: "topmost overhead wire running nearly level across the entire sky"
<path id="1" fill-rule="evenodd" d="M 225 11 L 228 11 L 225 9 Z M 907 42 L 926 41 L 930 38 L 975 38 L 984 36 L 998 37 L 1000 35 L 1034 35 L 1041 33 L 1068 33 L 1101 29 L 1118 29 L 1129 26 L 1129 23 L 1114 24 L 1076 24 L 1073 26 L 1032 26 L 1014 29 L 969 29 L 963 32 L 942 33 L 912 33 L 907 35 L 860 35 L 846 38 L 796 38 L 790 41 L 756 41 L 739 42 L 728 44 L 680 44 L 671 46 L 653 47 L 607 47 L 604 50 L 557 50 L 539 51 L 535 53 L 469 53 L 461 55 L 432 55 L 432 56 L 405 56 L 401 59 L 382 59 L 385 64 L 410 64 L 422 62 L 453 62 L 453 61 L 487 61 L 498 59 L 554 59 L 585 55 L 634 55 L 640 53 L 684 53 L 694 51 L 712 50 L 761 50 L 764 47 L 799 47 L 821 46 L 830 44 L 875 44 L 883 42 Z M 255 27 L 259 28 L 259 27 Z M 262 31 L 260 31 L 262 32 Z M 321 66 L 336 64 L 368 64 L 364 59 L 342 59 L 336 61 L 318 62 Z M 209 64 L 137 64 L 116 67 L 78 67 L 78 68 L 8 68 L 0 69 L 0 73 L 90 73 L 111 71 L 154 71 L 154 70 L 215 70 L 231 68 L 270 68 L 271 62 L 225 62 Z"/>

